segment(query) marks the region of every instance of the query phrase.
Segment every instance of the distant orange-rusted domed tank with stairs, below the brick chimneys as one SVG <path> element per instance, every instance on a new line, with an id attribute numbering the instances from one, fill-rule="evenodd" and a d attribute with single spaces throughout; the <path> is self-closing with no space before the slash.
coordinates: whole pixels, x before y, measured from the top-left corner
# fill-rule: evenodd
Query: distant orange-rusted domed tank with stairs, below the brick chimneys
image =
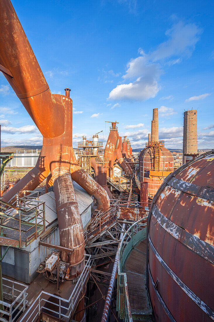
<path id="1" fill-rule="evenodd" d="M 155 148 L 145 148 L 139 156 L 140 181 L 148 182 L 148 192 L 154 196 L 162 185 L 164 178 L 174 170 L 172 153 L 164 147 L 164 141 L 160 141 L 159 167 L 155 169 Z"/>

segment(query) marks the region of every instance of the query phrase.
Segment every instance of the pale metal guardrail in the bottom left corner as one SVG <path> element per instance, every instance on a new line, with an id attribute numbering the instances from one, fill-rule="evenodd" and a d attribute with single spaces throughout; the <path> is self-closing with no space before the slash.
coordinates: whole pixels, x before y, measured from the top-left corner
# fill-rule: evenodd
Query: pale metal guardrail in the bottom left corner
<path id="1" fill-rule="evenodd" d="M 0 309 L 2 313 L 0 321 L 16 321 L 21 312 L 25 311 L 28 286 L 4 277 L 2 278 L 2 285 L 5 301 L 0 301 L 0 305 L 3 307 L 3 309 Z"/>

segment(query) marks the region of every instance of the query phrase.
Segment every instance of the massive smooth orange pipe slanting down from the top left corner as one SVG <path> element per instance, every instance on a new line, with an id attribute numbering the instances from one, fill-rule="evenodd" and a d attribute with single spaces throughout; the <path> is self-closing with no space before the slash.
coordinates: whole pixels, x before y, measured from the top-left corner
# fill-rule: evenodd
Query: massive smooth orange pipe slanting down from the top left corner
<path id="1" fill-rule="evenodd" d="M 4 44 L 0 47 L 0 64 L 13 75 L 4 74 L 5 78 L 43 137 L 58 137 L 65 125 L 62 106 L 51 94 L 10 0 L 0 1 L 0 42 Z"/>

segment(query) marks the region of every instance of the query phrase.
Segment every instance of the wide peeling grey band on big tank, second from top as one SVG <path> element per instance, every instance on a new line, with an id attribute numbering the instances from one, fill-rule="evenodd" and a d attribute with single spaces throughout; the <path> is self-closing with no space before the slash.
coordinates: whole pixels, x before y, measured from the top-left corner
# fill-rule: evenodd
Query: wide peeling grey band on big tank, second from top
<path id="1" fill-rule="evenodd" d="M 154 204 L 152 214 L 157 222 L 166 230 L 172 237 L 181 242 L 184 246 L 194 251 L 196 254 L 214 264 L 214 247 L 207 242 L 202 241 L 198 237 L 190 234 L 181 227 L 177 226 L 171 220 L 166 218 L 157 206 Z"/>

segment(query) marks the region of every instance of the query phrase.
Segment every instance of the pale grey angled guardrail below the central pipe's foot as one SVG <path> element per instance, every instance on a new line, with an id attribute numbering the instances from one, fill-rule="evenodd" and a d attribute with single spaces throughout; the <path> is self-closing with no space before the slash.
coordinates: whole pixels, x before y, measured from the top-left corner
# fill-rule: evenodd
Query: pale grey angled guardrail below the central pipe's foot
<path id="1" fill-rule="evenodd" d="M 85 256 L 87 257 L 85 267 L 79 276 L 70 298 L 60 298 L 59 296 L 42 291 L 31 306 L 24 312 L 23 316 L 19 319 L 19 322 L 36 322 L 42 312 L 56 317 L 57 320 L 63 319 L 63 321 L 69 322 L 70 319 L 73 318 L 73 313 L 78 305 L 79 297 L 83 293 L 90 275 L 91 255 L 85 254 Z M 49 304 L 51 304 L 51 308 L 48 307 Z"/>

